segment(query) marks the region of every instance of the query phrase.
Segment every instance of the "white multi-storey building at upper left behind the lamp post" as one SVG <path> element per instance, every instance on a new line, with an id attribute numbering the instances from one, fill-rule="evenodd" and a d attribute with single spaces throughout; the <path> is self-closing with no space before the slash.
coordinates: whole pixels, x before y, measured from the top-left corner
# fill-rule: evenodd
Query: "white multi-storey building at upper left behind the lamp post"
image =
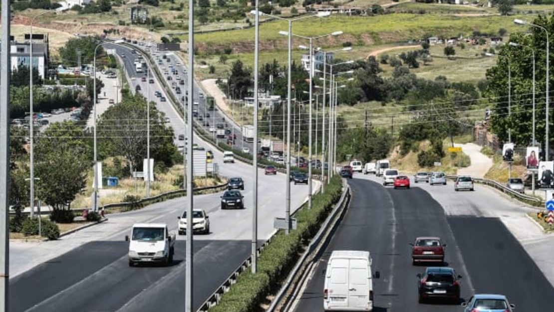
<path id="1" fill-rule="evenodd" d="M 43 39 L 37 39 L 42 37 Z M 33 34 L 33 68 L 38 69 L 40 78 L 44 79 L 48 71 L 48 37 L 44 35 Z M 20 67 L 29 67 L 30 40 L 29 35 L 25 34 L 25 42 L 12 41 L 10 57 L 12 70 Z"/>

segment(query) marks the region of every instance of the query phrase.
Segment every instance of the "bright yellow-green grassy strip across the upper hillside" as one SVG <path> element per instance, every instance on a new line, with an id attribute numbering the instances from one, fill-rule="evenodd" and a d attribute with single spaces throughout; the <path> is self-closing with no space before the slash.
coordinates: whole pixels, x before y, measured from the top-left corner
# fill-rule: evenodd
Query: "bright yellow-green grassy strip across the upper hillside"
<path id="1" fill-rule="evenodd" d="M 405 13 L 375 17 L 332 16 L 330 18 L 314 18 L 296 22 L 293 25 L 293 32 L 305 36 L 316 36 L 342 30 L 345 34 L 353 35 L 356 38 L 361 35 L 368 35 L 373 43 L 387 43 L 422 38 L 424 34 L 450 37 L 460 34 L 470 35 L 474 30 L 484 33 L 497 33 L 499 28 L 505 28 L 509 32 L 522 31 L 520 27 L 514 25 L 514 18 L 529 19 L 529 16 L 453 17 L 437 14 Z M 286 43 L 286 38 L 279 35 L 280 30 L 286 30 L 286 22 L 264 23 L 260 26 L 260 38 L 262 40 L 281 40 Z M 242 29 L 199 34 L 196 41 L 203 44 L 225 45 L 228 43 L 251 42 L 253 38 L 254 29 Z M 321 40 L 321 45 L 332 47 L 336 45 L 334 42 L 335 40 L 325 38 Z"/>

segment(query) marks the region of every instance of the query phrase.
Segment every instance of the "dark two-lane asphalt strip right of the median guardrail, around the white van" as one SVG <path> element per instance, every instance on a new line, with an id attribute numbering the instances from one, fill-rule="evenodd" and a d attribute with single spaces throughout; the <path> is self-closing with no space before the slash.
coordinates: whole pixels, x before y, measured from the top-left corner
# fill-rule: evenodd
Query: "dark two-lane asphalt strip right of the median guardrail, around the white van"
<path id="1" fill-rule="evenodd" d="M 350 180 L 352 202 L 337 232 L 325 249 L 301 295 L 296 311 L 322 311 L 322 270 L 332 250 L 368 250 L 373 258 L 375 311 L 458 311 L 453 303 L 418 304 L 417 277 L 424 267 L 413 266 L 408 243 L 417 236 L 439 236 L 449 245 L 448 265 L 464 275 L 461 295 L 471 293 L 463 259 L 449 229 L 442 207 L 422 190 L 384 189 L 365 179 Z"/>

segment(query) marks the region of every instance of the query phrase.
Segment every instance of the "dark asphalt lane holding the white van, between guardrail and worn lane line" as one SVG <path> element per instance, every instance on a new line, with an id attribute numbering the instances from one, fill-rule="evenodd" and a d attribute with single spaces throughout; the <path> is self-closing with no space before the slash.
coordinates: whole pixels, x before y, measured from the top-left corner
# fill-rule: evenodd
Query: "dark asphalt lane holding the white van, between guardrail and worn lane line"
<path id="1" fill-rule="evenodd" d="M 393 271 L 387 265 L 396 257 L 393 248 L 394 206 L 388 193 L 370 181 L 349 181 L 352 200 L 321 258 L 311 272 L 306 288 L 297 299 L 295 311 L 323 311 L 323 270 L 332 250 L 369 250 L 373 258 L 373 271 L 381 272 L 381 279 L 374 279 L 374 311 L 386 311 L 387 300 L 382 293 L 391 282 Z M 396 298 L 393 298 L 396 299 Z"/>

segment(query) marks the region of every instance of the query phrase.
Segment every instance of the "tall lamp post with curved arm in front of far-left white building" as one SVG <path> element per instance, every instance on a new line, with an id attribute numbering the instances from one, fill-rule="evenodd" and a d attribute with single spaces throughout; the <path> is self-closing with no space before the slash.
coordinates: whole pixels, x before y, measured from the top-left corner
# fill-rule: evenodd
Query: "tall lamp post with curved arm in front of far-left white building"
<path id="1" fill-rule="evenodd" d="M 31 19 L 31 29 L 29 37 L 29 207 L 30 216 L 34 217 L 34 112 L 33 112 L 33 23 L 34 20 L 51 10 L 44 11 Z"/>

